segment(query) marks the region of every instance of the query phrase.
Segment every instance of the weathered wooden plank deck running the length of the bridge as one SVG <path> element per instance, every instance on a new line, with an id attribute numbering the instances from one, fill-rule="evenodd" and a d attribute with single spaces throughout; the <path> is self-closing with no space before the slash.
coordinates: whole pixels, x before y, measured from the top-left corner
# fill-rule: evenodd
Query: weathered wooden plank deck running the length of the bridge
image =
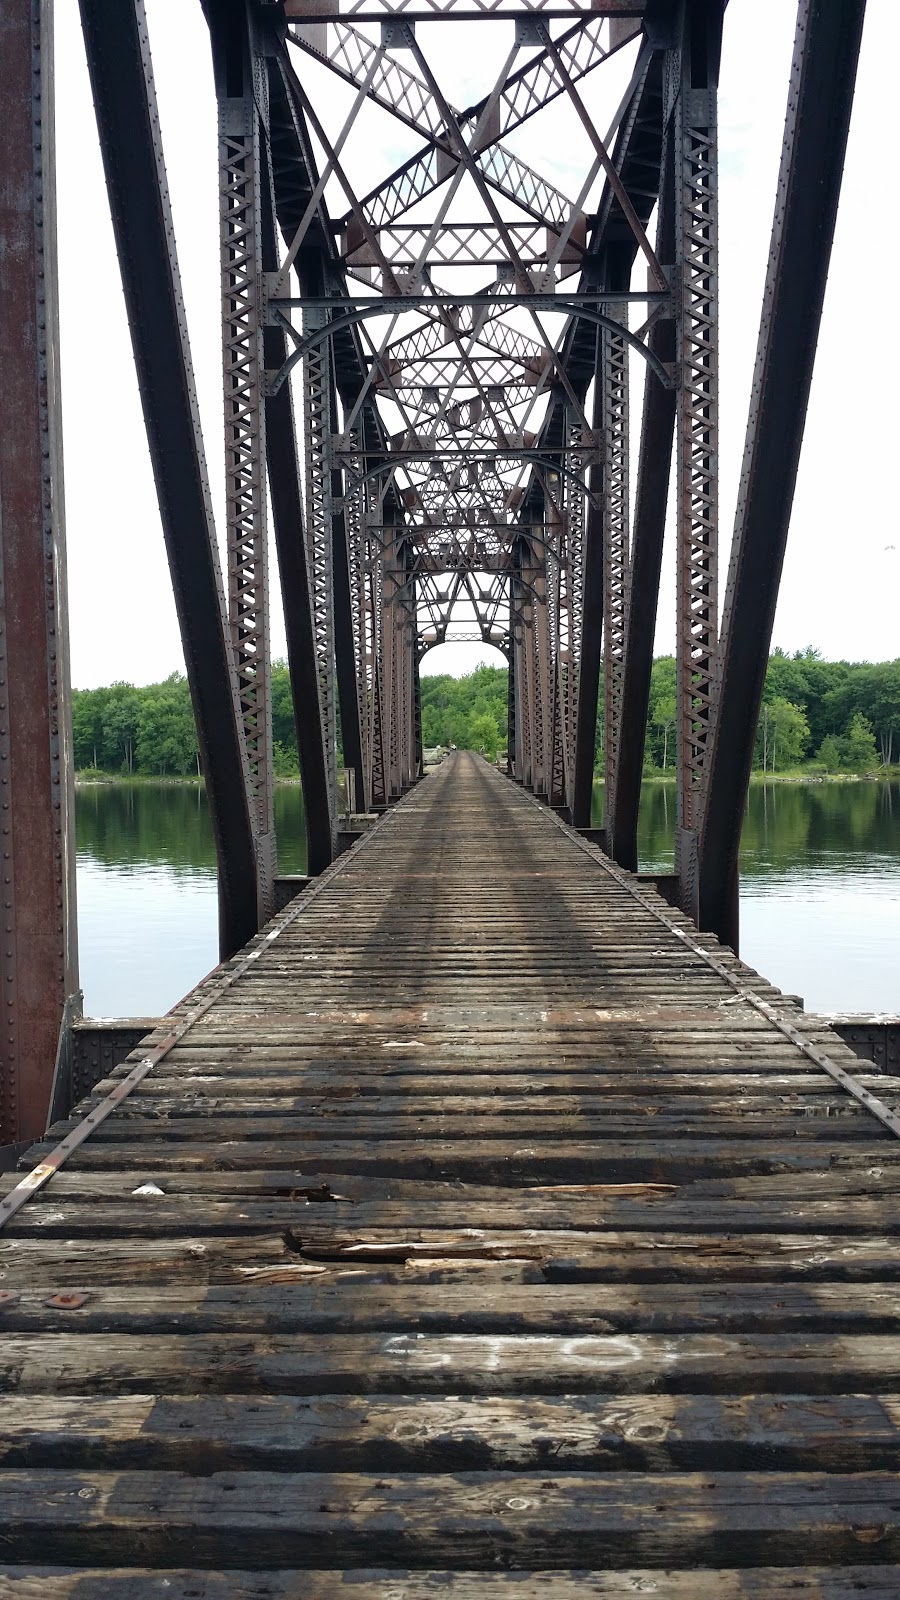
<path id="1" fill-rule="evenodd" d="M 900 1080 L 469 755 L 197 1010 L 0 1234 L 2 1597 L 897 1600 Z"/>

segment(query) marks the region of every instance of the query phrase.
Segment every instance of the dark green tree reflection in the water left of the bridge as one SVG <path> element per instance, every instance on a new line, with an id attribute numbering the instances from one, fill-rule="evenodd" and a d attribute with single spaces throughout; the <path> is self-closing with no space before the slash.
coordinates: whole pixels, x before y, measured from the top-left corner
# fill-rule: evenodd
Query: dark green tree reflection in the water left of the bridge
<path id="1" fill-rule="evenodd" d="M 275 789 L 279 869 L 306 870 L 303 797 Z M 104 866 L 215 872 L 213 830 L 202 784 L 85 784 L 75 792 L 78 854 Z"/>

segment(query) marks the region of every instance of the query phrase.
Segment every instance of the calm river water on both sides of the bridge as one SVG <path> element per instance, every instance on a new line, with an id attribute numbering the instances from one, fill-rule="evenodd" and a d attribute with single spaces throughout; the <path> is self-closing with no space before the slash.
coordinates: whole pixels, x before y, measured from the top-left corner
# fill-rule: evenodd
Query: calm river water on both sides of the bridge
<path id="1" fill-rule="evenodd" d="M 596 795 L 602 814 L 602 789 Z M 279 869 L 303 802 L 275 789 Z M 671 870 L 674 789 L 647 784 L 641 866 Z M 197 786 L 77 792 L 85 1014 L 157 1016 L 216 962 L 215 858 Z M 741 955 L 814 1011 L 900 1013 L 900 784 L 757 784 L 741 846 Z"/>

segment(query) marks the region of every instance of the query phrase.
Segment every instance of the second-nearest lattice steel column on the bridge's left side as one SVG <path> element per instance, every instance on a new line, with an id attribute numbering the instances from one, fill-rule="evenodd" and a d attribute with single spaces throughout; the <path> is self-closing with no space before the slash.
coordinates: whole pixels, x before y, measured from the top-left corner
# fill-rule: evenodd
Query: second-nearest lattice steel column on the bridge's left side
<path id="1" fill-rule="evenodd" d="M 307 307 L 303 331 L 327 325 L 327 312 Z M 306 456 L 306 565 L 312 581 L 315 675 L 325 739 L 328 814 L 338 814 L 338 723 L 335 704 L 335 584 L 331 494 L 331 341 L 320 339 L 303 357 L 303 438 Z M 335 822 L 336 826 L 336 822 Z"/>

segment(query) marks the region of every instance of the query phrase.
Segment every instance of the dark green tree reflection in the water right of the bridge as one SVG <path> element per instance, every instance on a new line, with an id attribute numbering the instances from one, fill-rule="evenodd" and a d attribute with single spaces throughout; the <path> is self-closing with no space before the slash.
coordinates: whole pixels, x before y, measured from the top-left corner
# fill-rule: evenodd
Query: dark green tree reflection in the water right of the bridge
<path id="1" fill-rule="evenodd" d="M 639 861 L 652 870 L 674 862 L 676 792 L 644 784 Z M 594 826 L 602 824 L 602 784 L 594 790 Z M 847 856 L 895 856 L 900 864 L 900 784 L 753 784 L 741 835 L 748 875 L 790 867 L 838 866 Z"/>

